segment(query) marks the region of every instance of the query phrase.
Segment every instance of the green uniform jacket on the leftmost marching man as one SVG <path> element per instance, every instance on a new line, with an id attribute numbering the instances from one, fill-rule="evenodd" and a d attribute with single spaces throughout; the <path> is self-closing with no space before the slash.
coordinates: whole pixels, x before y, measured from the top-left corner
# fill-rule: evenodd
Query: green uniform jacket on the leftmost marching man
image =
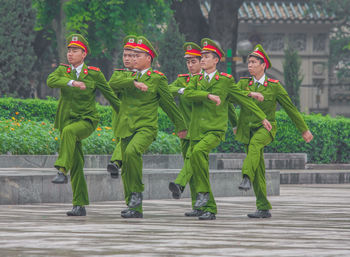
<path id="1" fill-rule="evenodd" d="M 67 122 L 74 120 L 90 120 L 93 126 L 97 126 L 99 115 L 96 109 L 96 88 L 110 102 L 114 110 L 118 111 L 120 101 L 100 71 L 100 69 L 83 65 L 79 79 L 71 72 L 71 67 L 61 64 L 47 78 L 47 85 L 51 88 L 60 88 L 61 96 L 58 102 L 55 128 L 63 130 Z M 74 73 L 74 74 L 73 74 Z M 82 81 L 86 85 L 85 90 L 68 86 L 70 80 Z"/>

